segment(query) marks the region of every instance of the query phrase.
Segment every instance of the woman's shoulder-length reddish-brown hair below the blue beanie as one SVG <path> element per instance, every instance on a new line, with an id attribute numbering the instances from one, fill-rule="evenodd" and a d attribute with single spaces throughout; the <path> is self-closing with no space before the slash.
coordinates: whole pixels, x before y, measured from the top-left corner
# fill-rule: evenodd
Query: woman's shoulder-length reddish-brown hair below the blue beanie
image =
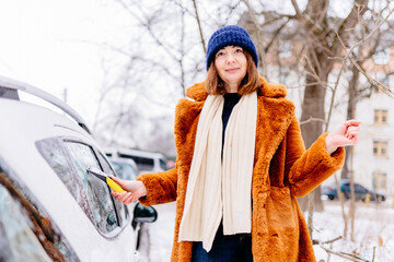
<path id="1" fill-rule="evenodd" d="M 240 95 L 251 94 L 262 86 L 256 64 L 253 61 L 252 56 L 247 51 L 244 51 L 244 53 L 246 57 L 246 74 L 239 86 L 237 93 Z M 209 66 L 205 85 L 207 93 L 210 95 L 224 95 L 227 93 L 224 88 L 224 81 L 219 76 L 215 67 L 215 59 Z"/>

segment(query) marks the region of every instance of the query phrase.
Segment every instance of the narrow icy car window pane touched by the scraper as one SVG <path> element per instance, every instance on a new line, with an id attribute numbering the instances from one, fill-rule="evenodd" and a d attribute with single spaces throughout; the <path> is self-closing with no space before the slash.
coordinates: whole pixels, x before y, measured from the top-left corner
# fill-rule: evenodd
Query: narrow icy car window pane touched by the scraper
<path id="1" fill-rule="evenodd" d="M 108 186 L 101 179 L 86 172 L 86 169 L 91 166 L 100 169 L 99 160 L 92 147 L 71 141 L 66 141 L 65 144 L 86 192 L 95 226 L 104 234 L 111 233 L 119 224 Z"/>

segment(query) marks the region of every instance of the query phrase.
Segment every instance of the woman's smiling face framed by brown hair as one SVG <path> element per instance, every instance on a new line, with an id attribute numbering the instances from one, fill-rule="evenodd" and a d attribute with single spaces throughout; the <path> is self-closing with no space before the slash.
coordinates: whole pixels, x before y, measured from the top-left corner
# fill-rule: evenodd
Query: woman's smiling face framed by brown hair
<path id="1" fill-rule="evenodd" d="M 246 74 L 247 60 L 242 47 L 227 46 L 215 56 L 215 67 L 224 81 L 224 87 L 232 91 L 240 86 Z M 235 90 L 235 92 L 236 92 Z M 228 90 L 229 92 L 229 90 Z"/>

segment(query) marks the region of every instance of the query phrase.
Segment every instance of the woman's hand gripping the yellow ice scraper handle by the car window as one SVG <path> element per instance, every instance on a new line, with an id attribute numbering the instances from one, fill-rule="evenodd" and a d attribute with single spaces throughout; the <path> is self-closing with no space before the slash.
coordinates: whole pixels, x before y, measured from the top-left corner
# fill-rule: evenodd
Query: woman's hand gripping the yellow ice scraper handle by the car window
<path id="1" fill-rule="evenodd" d="M 139 198 L 147 195 L 147 188 L 143 186 L 142 181 L 124 180 L 114 176 L 111 176 L 111 179 L 117 182 L 125 190 L 121 193 L 115 191 L 111 192 L 111 195 L 120 203 L 130 204 Z"/>

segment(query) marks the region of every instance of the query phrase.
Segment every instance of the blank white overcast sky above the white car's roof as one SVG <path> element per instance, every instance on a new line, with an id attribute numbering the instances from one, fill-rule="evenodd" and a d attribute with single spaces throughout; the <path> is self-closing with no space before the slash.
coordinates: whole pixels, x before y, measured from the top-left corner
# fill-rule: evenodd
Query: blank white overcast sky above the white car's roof
<path id="1" fill-rule="evenodd" d="M 101 0 L 0 1 L 0 75 L 63 98 L 92 124 L 101 86 L 99 43 L 121 26 Z"/>

